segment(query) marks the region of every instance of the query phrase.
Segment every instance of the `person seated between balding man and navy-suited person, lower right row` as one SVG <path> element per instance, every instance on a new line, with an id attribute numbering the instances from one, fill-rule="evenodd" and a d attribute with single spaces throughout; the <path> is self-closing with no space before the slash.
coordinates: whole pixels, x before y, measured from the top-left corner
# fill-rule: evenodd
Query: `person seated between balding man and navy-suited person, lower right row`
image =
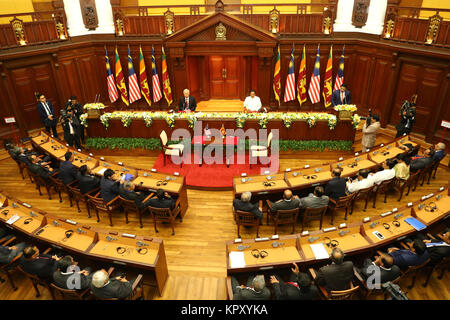
<path id="1" fill-rule="evenodd" d="M 370 276 L 377 272 L 380 275 L 379 283 L 385 283 L 397 279 L 401 272 L 400 268 L 394 265 L 394 259 L 387 254 L 381 254 L 375 256 L 375 260 L 371 259 L 364 260 L 362 268 L 359 268 L 359 273 L 367 280 Z M 377 279 L 374 279 L 375 281 Z M 372 282 L 372 284 L 375 284 Z"/>

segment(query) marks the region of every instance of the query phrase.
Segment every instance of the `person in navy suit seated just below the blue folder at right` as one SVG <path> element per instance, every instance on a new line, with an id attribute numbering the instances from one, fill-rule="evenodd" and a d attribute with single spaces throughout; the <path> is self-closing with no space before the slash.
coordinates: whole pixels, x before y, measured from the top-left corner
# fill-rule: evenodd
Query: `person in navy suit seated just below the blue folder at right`
<path id="1" fill-rule="evenodd" d="M 410 244 L 408 242 L 408 244 Z M 404 269 L 411 266 L 418 266 L 429 258 L 429 253 L 425 243 L 420 239 L 412 242 L 411 249 L 389 248 L 388 253 L 394 258 L 394 264 Z"/>

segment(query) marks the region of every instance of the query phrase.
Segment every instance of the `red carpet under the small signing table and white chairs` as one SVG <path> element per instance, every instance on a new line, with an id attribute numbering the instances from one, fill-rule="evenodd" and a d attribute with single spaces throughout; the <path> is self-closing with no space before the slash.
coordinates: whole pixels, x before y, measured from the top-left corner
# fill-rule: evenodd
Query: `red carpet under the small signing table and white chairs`
<path id="1" fill-rule="evenodd" d="M 188 186 L 192 187 L 209 187 L 209 188 L 231 188 L 233 187 L 233 177 L 239 177 L 241 173 L 247 173 L 250 175 L 262 174 L 265 170 L 270 170 L 268 165 L 253 164 L 252 169 L 248 163 L 248 156 L 246 155 L 246 164 L 230 164 L 227 168 L 226 164 L 206 164 L 203 163 L 200 167 L 198 164 L 194 164 L 194 155 L 191 155 L 191 164 L 183 163 L 183 167 L 174 164 L 170 159 L 166 159 L 166 166 L 164 166 L 163 155 L 160 154 L 158 159 L 156 159 L 154 169 L 158 172 L 170 173 L 174 172 L 180 173 L 180 175 L 185 176 L 185 182 Z M 275 170 L 271 170 L 272 173 L 276 173 L 279 166 Z"/>

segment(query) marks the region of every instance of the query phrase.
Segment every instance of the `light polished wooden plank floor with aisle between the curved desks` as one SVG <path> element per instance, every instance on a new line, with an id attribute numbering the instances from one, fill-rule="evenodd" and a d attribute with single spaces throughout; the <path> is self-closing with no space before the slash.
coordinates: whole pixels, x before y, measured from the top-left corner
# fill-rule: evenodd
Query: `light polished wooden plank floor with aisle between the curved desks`
<path id="1" fill-rule="evenodd" d="M 360 148 L 358 139 L 355 148 Z M 380 137 L 377 143 L 387 142 L 391 138 Z M 295 168 L 304 164 L 323 163 L 326 155 L 317 153 L 316 159 L 305 159 L 301 156 L 290 156 L 289 159 L 280 159 L 280 169 L 287 167 Z M 330 159 L 335 159 L 334 155 L 328 155 Z M 320 159 L 319 159 L 320 158 Z M 122 161 L 125 164 L 132 164 L 136 167 L 150 169 L 156 160 L 155 157 L 133 157 L 133 156 L 106 156 L 111 161 Z M 16 164 L 5 156 L 5 152 L 0 152 L 0 189 L 15 195 L 17 198 L 34 205 L 35 207 L 58 215 L 62 218 L 71 218 L 83 224 L 99 226 L 103 229 L 111 229 L 108 226 L 107 218 L 101 216 L 101 222 L 96 223 L 94 218 L 88 219 L 84 207 L 82 212 L 77 213 L 76 209 L 69 207 L 67 198 L 62 203 L 58 200 L 48 200 L 47 196 L 39 196 L 37 190 L 28 179 L 18 178 Z M 418 199 L 422 195 L 436 190 L 439 186 L 449 182 L 450 172 L 447 168 L 439 168 L 436 180 L 432 180 L 430 185 L 424 184 L 416 192 L 404 197 L 401 204 Z M 232 218 L 232 191 L 202 191 L 188 190 L 189 209 L 182 223 L 176 225 L 176 235 L 171 236 L 168 227 L 159 227 L 159 233 L 155 234 L 150 220 L 144 220 L 144 228 L 138 227 L 136 217 L 130 216 L 130 223 L 125 224 L 125 219 L 117 214 L 113 217 L 114 230 L 120 232 L 149 235 L 164 239 L 166 249 L 167 264 L 169 269 L 169 279 L 163 296 L 159 297 L 153 291 L 147 289 L 147 298 L 153 299 L 226 299 L 225 277 L 225 241 L 236 237 L 236 225 Z M 389 197 L 388 203 L 382 201 L 377 203 L 377 209 L 370 208 L 363 212 L 361 205 L 355 207 L 355 212 L 350 216 L 348 222 L 361 220 L 363 217 L 379 214 L 388 211 L 392 207 L 399 206 L 395 195 Z M 329 219 L 329 217 L 327 217 Z M 343 221 L 342 216 L 337 217 L 337 223 Z M 327 227 L 329 220 L 325 220 Z M 312 224 L 311 230 L 318 228 Z M 253 230 L 243 230 L 243 238 L 254 237 Z M 289 227 L 281 227 L 279 234 L 289 233 Z M 265 224 L 260 229 L 261 236 L 270 236 L 273 233 L 272 226 Z M 15 275 L 19 289 L 13 292 L 9 283 L 0 284 L 0 299 L 50 299 L 50 295 L 42 290 L 40 298 L 34 297 L 34 290 L 31 283 L 20 274 Z M 407 279 L 406 279 L 407 280 Z M 421 283 L 423 275 L 419 276 L 414 289 L 408 296 L 410 299 L 450 299 L 450 276 L 447 272 L 442 280 L 437 280 L 433 275 L 427 288 L 423 288 Z M 406 288 L 407 281 L 401 283 Z"/>

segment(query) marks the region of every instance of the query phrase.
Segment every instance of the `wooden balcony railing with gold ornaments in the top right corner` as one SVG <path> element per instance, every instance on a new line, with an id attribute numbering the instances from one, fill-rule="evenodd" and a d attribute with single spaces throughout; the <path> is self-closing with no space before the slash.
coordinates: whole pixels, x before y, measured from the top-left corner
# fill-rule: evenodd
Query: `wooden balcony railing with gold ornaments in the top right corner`
<path id="1" fill-rule="evenodd" d="M 389 5 L 383 39 L 418 45 L 450 47 L 450 9 Z"/>

